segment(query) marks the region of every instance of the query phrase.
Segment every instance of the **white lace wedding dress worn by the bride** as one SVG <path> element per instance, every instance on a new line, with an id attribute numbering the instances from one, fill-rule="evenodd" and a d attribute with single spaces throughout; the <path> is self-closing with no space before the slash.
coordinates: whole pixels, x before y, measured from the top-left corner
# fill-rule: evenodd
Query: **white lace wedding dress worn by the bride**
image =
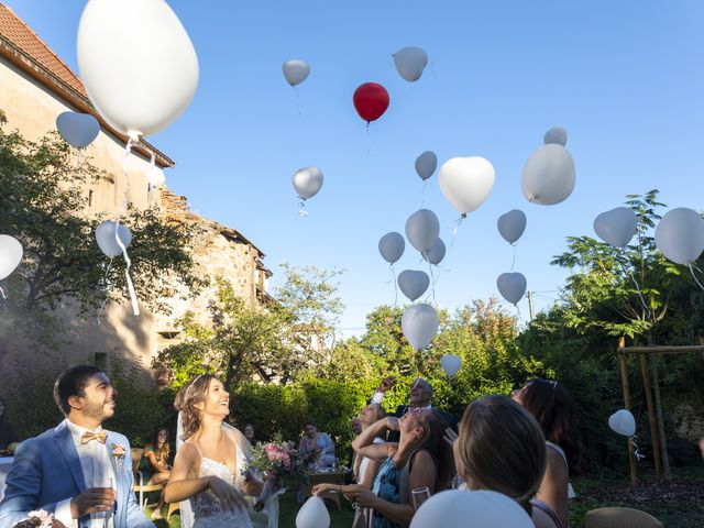
<path id="1" fill-rule="evenodd" d="M 235 479 L 227 465 L 202 455 L 198 476 L 217 476 L 238 490 L 242 486 L 242 479 Z M 234 510 L 224 509 L 220 499 L 210 490 L 191 497 L 190 507 L 194 513 L 194 528 L 252 528 L 246 509 L 243 507 Z"/>

